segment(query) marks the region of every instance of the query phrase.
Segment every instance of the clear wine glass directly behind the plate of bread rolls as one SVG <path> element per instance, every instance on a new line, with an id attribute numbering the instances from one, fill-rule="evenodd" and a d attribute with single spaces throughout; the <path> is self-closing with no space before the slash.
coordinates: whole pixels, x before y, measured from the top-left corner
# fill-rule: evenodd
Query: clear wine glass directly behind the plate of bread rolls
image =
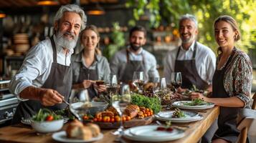
<path id="1" fill-rule="evenodd" d="M 87 89 L 72 89 L 69 98 L 70 112 L 82 122 L 82 117 L 87 114 L 88 109 L 92 106 Z"/>

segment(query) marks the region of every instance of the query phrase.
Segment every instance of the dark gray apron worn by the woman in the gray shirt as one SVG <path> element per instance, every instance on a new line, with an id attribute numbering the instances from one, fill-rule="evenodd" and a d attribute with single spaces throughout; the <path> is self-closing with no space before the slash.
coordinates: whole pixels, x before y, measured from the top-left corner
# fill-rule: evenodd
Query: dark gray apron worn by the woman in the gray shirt
<path id="1" fill-rule="evenodd" d="M 87 80 L 88 77 L 90 80 L 94 80 L 94 81 L 98 80 L 97 66 L 98 65 L 96 65 L 96 69 L 88 69 L 87 67 L 82 66 L 82 63 L 81 63 L 77 84 L 80 84 L 84 80 Z M 97 97 L 97 93 L 95 92 L 95 89 L 93 88 L 93 84 L 87 88 L 87 91 L 88 91 L 90 99 Z"/>

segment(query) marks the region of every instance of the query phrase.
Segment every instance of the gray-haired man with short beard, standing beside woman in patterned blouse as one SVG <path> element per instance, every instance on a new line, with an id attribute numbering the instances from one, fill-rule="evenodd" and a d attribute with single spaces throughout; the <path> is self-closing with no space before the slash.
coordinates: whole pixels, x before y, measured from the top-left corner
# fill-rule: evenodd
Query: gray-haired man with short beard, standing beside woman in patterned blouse
<path id="1" fill-rule="evenodd" d="M 170 83 L 172 72 L 181 72 L 183 89 L 212 89 L 216 56 L 212 49 L 196 41 L 198 34 L 196 18 L 190 14 L 179 21 L 181 46 L 169 51 L 164 59 L 163 74 Z M 182 91 L 182 89 L 180 90 Z"/>

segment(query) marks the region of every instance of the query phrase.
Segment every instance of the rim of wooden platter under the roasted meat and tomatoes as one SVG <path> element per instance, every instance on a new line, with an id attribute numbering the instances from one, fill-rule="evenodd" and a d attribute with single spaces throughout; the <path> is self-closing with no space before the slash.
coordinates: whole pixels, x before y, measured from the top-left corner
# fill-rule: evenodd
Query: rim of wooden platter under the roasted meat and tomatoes
<path id="1" fill-rule="evenodd" d="M 153 122 L 154 117 L 145 117 L 143 119 L 131 119 L 130 121 L 123 122 L 123 127 L 136 127 L 136 126 L 142 126 L 146 124 L 151 124 Z M 120 122 L 94 122 L 95 124 L 98 124 L 100 128 L 102 129 L 118 129 L 120 127 Z"/>

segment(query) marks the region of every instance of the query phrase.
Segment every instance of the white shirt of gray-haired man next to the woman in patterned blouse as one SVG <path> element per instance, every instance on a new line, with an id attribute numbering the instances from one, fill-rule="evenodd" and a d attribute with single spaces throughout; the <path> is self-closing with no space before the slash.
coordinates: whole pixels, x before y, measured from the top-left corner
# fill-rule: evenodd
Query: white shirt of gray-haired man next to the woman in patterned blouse
<path id="1" fill-rule="evenodd" d="M 216 66 L 216 56 L 212 49 L 208 46 L 196 42 L 196 70 L 199 76 L 207 83 L 212 84 L 212 78 L 214 76 L 215 66 Z M 171 79 L 171 72 L 174 72 L 174 65 L 176 60 L 176 55 L 178 52 L 178 47 L 169 51 L 163 61 L 163 75 L 166 77 L 166 82 L 169 84 Z M 194 42 L 189 47 L 189 50 L 185 50 L 181 46 L 179 51 L 178 60 L 190 60 L 192 59 L 194 51 Z"/>

